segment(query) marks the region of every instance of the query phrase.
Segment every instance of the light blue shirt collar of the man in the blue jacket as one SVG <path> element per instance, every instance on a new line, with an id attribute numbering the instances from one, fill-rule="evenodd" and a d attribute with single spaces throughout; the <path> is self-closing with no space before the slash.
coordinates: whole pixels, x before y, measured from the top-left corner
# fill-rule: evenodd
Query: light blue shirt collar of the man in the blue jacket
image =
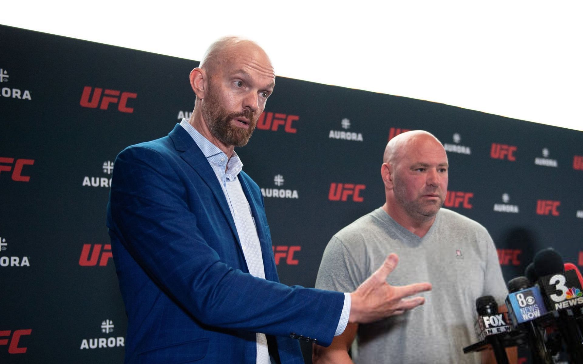
<path id="1" fill-rule="evenodd" d="M 239 172 L 243 169 L 243 162 L 241 162 L 235 151 L 233 151 L 231 158 L 227 158 L 227 154 L 190 125 L 188 119 L 182 119 L 180 126 L 182 126 L 182 128 L 184 128 L 184 130 L 186 130 L 192 137 L 196 145 L 201 149 L 202 154 L 205 155 L 206 160 L 208 160 L 211 165 L 221 167 L 220 170 L 222 171 L 222 174 L 224 174 L 229 181 L 233 181 L 233 179 L 236 178 Z M 226 173 L 224 172 L 225 168 L 227 168 Z"/>

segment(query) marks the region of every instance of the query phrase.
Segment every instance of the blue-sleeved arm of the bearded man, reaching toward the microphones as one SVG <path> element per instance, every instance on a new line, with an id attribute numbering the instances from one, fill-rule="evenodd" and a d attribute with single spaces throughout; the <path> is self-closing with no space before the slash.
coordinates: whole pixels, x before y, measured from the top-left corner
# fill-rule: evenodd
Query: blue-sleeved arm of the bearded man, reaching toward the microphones
<path id="1" fill-rule="evenodd" d="M 183 309 L 213 327 L 332 341 L 343 294 L 287 287 L 222 261 L 213 246 L 237 249 L 233 232 L 217 227 L 226 224 L 222 211 L 205 182 L 184 177 L 189 166 L 145 147 L 125 150 L 116 163 L 108 218 L 112 242 L 127 249 Z M 187 187 L 189 182 L 194 186 Z M 189 206 L 193 201 L 195 208 Z M 315 317 L 321 324 L 314 324 Z"/>

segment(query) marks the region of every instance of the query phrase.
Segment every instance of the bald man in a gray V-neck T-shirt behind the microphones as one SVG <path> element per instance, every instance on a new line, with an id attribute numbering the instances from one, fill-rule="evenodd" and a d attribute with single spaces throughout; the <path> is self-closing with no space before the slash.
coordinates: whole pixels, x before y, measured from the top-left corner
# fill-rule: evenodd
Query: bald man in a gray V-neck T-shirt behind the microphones
<path id="1" fill-rule="evenodd" d="M 381 167 L 385 204 L 334 235 L 317 288 L 349 292 L 389 253 L 399 265 L 391 285 L 430 281 L 426 305 L 371 324 L 352 324 L 328 348 L 314 346 L 314 363 L 479 363 L 462 348 L 477 341 L 475 300 L 508 294 L 496 248 L 482 225 L 441 208 L 448 183 L 447 154 L 428 132 L 391 139 Z M 484 356 L 484 361 L 487 357 Z"/>

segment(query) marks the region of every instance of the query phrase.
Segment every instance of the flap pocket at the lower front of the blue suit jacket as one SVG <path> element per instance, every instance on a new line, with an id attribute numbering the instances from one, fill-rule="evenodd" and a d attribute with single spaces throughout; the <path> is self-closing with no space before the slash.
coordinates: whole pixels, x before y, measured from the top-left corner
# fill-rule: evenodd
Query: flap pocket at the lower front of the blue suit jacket
<path id="1" fill-rule="evenodd" d="M 180 344 L 145 351 L 138 355 L 138 362 L 141 364 L 183 364 L 196 362 L 205 357 L 208 347 L 208 338 L 181 342 Z"/>

